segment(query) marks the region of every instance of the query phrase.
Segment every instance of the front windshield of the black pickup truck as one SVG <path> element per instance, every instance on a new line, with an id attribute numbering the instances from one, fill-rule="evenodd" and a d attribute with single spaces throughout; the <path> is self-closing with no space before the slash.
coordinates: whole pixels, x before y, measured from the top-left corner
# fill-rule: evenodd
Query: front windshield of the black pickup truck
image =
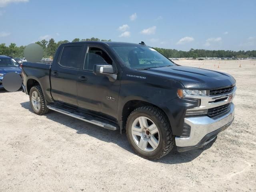
<path id="1" fill-rule="evenodd" d="M 113 46 L 112 48 L 130 69 L 175 65 L 168 58 L 148 46 Z"/>

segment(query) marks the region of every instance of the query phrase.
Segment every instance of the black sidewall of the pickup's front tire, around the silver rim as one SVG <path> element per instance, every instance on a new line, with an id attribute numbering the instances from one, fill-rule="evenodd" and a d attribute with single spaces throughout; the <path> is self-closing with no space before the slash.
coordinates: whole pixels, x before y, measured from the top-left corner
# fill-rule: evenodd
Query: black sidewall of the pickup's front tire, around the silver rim
<path id="1" fill-rule="evenodd" d="M 156 148 L 156 150 L 152 151 L 152 152 L 146 152 L 141 150 L 136 143 L 134 142 L 134 139 L 132 137 L 132 123 L 134 122 L 134 120 L 140 116 L 144 116 L 149 118 L 150 120 L 152 120 L 154 122 L 154 124 L 156 124 L 157 128 L 158 128 L 158 132 L 159 132 L 159 137 L 160 137 L 160 142 L 158 144 L 158 147 Z M 151 111 L 149 110 L 145 110 L 145 109 L 139 109 L 136 112 L 134 112 L 133 114 L 131 114 L 127 120 L 127 124 L 126 124 L 126 134 L 128 137 L 128 140 L 130 142 L 130 145 L 132 146 L 132 148 L 138 152 L 139 155 L 145 157 L 145 158 L 155 158 L 157 156 L 159 156 L 162 153 L 162 150 L 165 146 L 165 144 L 167 143 L 166 141 L 166 131 L 164 128 L 162 128 L 164 122 L 160 122 L 160 120 L 155 116 L 155 114 L 153 114 Z"/>

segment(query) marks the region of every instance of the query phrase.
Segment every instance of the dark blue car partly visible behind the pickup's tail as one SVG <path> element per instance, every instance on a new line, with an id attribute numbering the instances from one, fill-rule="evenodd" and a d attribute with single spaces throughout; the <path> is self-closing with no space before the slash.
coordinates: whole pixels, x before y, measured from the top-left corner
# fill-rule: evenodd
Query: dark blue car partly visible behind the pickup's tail
<path id="1" fill-rule="evenodd" d="M 21 68 L 14 58 L 0 55 L 0 89 L 3 89 L 2 80 L 4 75 L 9 72 L 16 72 L 21 74 Z"/>

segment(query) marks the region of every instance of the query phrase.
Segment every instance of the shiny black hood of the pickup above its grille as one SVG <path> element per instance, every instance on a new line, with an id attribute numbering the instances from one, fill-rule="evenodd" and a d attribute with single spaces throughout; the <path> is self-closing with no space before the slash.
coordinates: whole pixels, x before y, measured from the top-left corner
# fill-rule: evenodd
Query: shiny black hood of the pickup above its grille
<path id="1" fill-rule="evenodd" d="M 142 72 L 177 80 L 189 89 L 211 90 L 236 82 L 231 75 L 223 72 L 187 66 L 152 68 Z"/>

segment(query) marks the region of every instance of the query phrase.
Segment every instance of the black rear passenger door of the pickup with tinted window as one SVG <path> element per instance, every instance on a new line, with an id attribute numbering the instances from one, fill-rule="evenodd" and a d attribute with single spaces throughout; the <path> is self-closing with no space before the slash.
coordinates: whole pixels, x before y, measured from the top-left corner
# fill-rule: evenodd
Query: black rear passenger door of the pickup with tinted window
<path id="1" fill-rule="evenodd" d="M 84 66 L 84 44 L 66 44 L 51 68 L 51 93 L 57 102 L 77 106 L 78 71 Z"/>

